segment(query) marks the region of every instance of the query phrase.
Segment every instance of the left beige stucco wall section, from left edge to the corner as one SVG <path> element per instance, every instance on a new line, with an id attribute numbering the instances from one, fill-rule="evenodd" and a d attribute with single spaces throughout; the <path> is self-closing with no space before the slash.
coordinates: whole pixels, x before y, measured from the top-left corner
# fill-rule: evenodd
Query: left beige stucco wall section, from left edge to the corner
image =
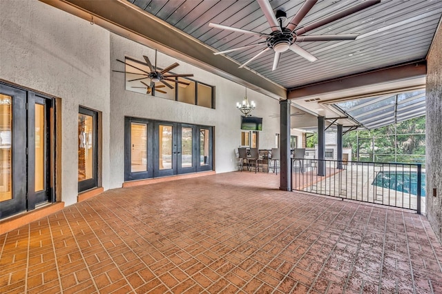
<path id="1" fill-rule="evenodd" d="M 61 99 L 61 195 L 77 202 L 78 106 L 102 112 L 109 182 L 109 32 L 39 1 L 0 1 L 0 79 Z M 60 138 L 59 138 L 60 139 Z"/>

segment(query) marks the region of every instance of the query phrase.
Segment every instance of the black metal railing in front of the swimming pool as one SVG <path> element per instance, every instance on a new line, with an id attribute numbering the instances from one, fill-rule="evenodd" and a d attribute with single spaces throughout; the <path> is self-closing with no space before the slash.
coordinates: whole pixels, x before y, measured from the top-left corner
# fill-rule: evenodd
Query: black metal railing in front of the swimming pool
<path id="1" fill-rule="evenodd" d="M 291 159 L 291 187 L 309 193 L 416 210 L 425 197 L 421 164 Z"/>

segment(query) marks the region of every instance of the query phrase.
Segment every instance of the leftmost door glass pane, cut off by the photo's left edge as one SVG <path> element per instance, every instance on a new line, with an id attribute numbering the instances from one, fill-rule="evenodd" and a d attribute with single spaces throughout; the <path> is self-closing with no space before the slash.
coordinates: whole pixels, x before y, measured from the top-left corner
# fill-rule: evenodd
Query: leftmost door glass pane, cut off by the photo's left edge
<path id="1" fill-rule="evenodd" d="M 0 94 L 0 202 L 12 199 L 12 97 Z"/>

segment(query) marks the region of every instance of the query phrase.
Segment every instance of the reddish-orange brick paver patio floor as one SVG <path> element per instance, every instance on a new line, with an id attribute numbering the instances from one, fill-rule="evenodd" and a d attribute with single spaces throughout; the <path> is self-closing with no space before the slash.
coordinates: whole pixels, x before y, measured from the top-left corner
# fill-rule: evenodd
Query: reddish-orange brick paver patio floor
<path id="1" fill-rule="evenodd" d="M 236 172 L 108 190 L 0 235 L 0 293 L 442 293 L 426 217 Z"/>

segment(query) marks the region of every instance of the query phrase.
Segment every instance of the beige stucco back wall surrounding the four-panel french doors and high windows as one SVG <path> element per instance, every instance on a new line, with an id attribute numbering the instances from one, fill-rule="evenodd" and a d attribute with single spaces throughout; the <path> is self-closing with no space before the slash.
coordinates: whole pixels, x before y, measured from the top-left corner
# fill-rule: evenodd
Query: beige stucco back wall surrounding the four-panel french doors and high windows
<path id="1" fill-rule="evenodd" d="M 116 59 L 132 57 L 142 61 L 142 55 L 155 61 L 155 50 L 115 34 L 111 34 L 111 70 L 124 70 Z M 124 182 L 124 117 L 141 117 L 165 121 L 184 122 L 215 127 L 215 167 L 217 173 L 236 170 L 235 149 L 240 145 L 240 112 L 236 102 L 242 101 L 244 86 L 189 63 L 157 52 L 157 66 L 164 68 L 174 62 L 180 66 L 175 73 L 193 73 L 191 79 L 215 86 L 215 109 L 152 97 L 125 90 L 123 73 L 111 72 L 111 188 Z M 279 119 L 269 117 L 279 112 L 279 103 L 256 91 L 247 90 L 249 100 L 256 101 L 253 115 L 263 118 L 260 148 L 274 147 L 275 134 L 279 133 Z"/>

